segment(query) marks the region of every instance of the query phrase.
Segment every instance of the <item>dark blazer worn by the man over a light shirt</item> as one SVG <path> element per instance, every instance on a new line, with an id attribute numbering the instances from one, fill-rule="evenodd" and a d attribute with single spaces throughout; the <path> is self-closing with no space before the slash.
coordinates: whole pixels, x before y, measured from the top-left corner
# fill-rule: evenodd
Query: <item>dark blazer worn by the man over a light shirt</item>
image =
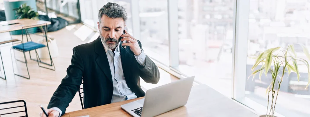
<path id="1" fill-rule="evenodd" d="M 140 41 L 138 43 L 142 49 Z M 120 52 L 128 87 L 137 97 L 143 97 L 145 93 L 141 89 L 139 77 L 147 83 L 158 83 L 159 71 L 157 66 L 148 56 L 146 56 L 145 66 L 140 65 L 129 47 L 121 46 Z M 71 65 L 67 69 L 67 75 L 54 92 L 47 108 L 58 107 L 63 115 L 76 92 L 78 92 L 82 80 L 85 108 L 111 103 L 113 94 L 112 75 L 100 37 L 91 43 L 73 48 Z"/>

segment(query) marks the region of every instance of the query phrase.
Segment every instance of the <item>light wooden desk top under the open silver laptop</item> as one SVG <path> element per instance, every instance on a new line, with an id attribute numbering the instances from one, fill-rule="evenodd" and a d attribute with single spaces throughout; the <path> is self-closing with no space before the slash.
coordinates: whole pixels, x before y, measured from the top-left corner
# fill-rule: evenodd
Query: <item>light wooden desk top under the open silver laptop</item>
<path id="1" fill-rule="evenodd" d="M 130 115 L 122 110 L 120 106 L 142 98 L 144 97 L 73 111 L 66 113 L 65 116 L 68 117 L 69 115 L 69 117 L 77 117 L 89 115 L 90 117 L 130 117 Z M 258 117 L 258 115 L 255 115 L 249 109 L 246 109 L 241 106 L 241 104 L 232 101 L 232 99 L 225 97 L 207 85 L 193 86 L 188 102 L 185 106 L 171 110 L 159 116 Z"/>

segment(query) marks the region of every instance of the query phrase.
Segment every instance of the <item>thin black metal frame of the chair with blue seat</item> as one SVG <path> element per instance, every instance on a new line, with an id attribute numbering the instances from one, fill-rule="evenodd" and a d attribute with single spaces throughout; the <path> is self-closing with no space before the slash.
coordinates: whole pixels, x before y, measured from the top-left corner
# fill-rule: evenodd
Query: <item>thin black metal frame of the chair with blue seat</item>
<path id="1" fill-rule="evenodd" d="M 42 24 L 40 24 L 40 25 L 42 25 Z M 27 65 L 28 61 L 27 61 L 27 59 L 26 59 L 25 52 L 29 52 L 30 60 L 37 61 L 39 67 L 46 68 L 46 69 L 49 69 L 49 70 L 54 70 L 54 71 L 56 70 L 56 69 L 55 69 L 55 65 L 54 65 L 54 63 L 53 63 L 53 60 L 52 60 L 52 57 L 51 57 L 50 48 L 49 48 L 49 46 L 48 46 L 48 40 L 47 40 L 47 23 L 45 23 L 45 25 L 43 25 L 43 26 L 44 26 L 45 28 L 43 29 L 44 32 L 42 32 L 42 33 L 44 34 L 43 37 L 45 37 L 45 40 L 46 40 L 46 43 L 47 43 L 47 46 L 45 46 L 45 47 L 47 47 L 48 53 L 49 53 L 49 55 L 50 55 L 51 64 L 48 64 L 48 63 L 45 63 L 45 62 L 41 61 L 41 59 L 40 59 L 40 57 L 39 57 L 39 55 L 38 55 L 38 52 L 37 52 L 37 49 L 39 49 L 39 48 L 34 49 L 34 51 L 35 51 L 35 53 L 36 53 L 36 58 L 37 58 L 37 59 L 31 58 L 30 51 L 32 51 L 32 50 L 24 51 L 24 50 L 20 50 L 20 49 L 16 49 L 16 48 L 15 48 L 15 49 L 14 49 L 14 48 L 11 48 L 11 51 L 13 50 L 15 60 L 20 61 L 20 62 L 26 64 L 28 77 L 25 77 L 25 76 L 22 76 L 22 75 L 19 75 L 19 74 L 15 74 L 14 65 L 13 65 L 13 57 L 11 57 L 11 59 L 12 59 L 12 66 L 13 66 L 13 73 L 14 73 L 15 75 L 20 76 L 20 77 L 23 77 L 23 78 L 26 78 L 26 79 L 30 79 L 29 69 L 28 69 L 28 65 Z M 43 26 L 42 26 L 42 27 L 43 27 Z M 29 38 L 30 38 L 30 41 L 32 41 L 32 39 L 31 39 L 31 37 L 30 37 L 30 34 L 28 33 L 27 29 L 29 29 L 29 28 L 35 28 L 35 27 L 40 27 L 40 26 L 39 26 L 39 25 L 32 25 L 32 26 L 25 26 L 25 27 L 22 27 L 21 30 L 22 30 L 22 44 L 23 44 L 23 49 L 24 49 L 24 31 L 25 31 L 25 35 L 26 35 L 26 38 L 27 38 L 27 42 L 29 42 L 28 36 L 29 36 Z M 37 34 L 37 35 L 38 35 L 38 34 Z M 40 35 L 40 36 L 42 36 L 42 35 Z M 40 47 L 40 48 L 43 48 L 43 47 Z M 25 61 L 21 61 L 21 60 L 16 59 L 14 50 L 17 50 L 17 51 L 19 51 L 19 52 L 23 52 L 23 54 L 24 54 L 24 60 L 25 60 Z M 12 56 L 12 52 L 11 52 L 11 56 Z M 45 64 L 45 65 L 49 65 L 49 66 L 53 66 L 54 69 L 41 66 L 39 63 Z"/>

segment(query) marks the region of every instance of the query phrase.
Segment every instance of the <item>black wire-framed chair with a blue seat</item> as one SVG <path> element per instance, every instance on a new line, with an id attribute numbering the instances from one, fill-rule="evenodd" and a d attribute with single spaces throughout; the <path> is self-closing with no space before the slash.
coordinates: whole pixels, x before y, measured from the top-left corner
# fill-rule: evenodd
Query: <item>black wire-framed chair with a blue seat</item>
<path id="1" fill-rule="evenodd" d="M 42 25 L 42 24 L 41 24 L 41 25 Z M 46 41 L 47 45 L 44 45 L 44 44 L 41 44 L 41 43 L 35 43 L 35 42 L 32 41 L 32 39 L 31 39 L 31 37 L 30 37 L 30 34 L 28 33 L 27 29 L 33 28 L 33 27 L 41 27 L 42 33 L 43 33 L 43 37 L 45 38 L 45 41 Z M 43 28 L 43 27 L 44 27 L 44 28 Z M 28 65 L 27 65 L 28 62 L 27 62 L 27 59 L 26 59 L 25 52 L 29 52 L 30 60 L 37 61 L 39 67 L 42 67 L 42 68 L 46 68 L 46 69 L 54 70 L 54 71 L 55 71 L 55 65 L 54 65 L 54 63 L 53 63 L 53 60 L 52 60 L 52 57 L 51 57 L 51 53 L 50 53 L 50 49 L 49 49 L 49 47 L 48 47 L 48 41 L 47 41 L 47 24 L 45 24 L 45 25 L 43 25 L 43 26 L 40 26 L 40 25 L 25 26 L 25 27 L 22 27 L 21 30 L 22 30 L 22 43 L 19 44 L 19 45 L 13 46 L 13 47 L 11 48 L 11 50 L 13 50 L 13 52 L 14 52 L 14 50 L 23 52 L 25 61 L 20 61 L 20 60 L 16 59 L 15 53 L 14 53 L 14 57 L 15 57 L 15 59 L 16 59 L 17 61 L 20 61 L 20 62 L 26 64 L 26 68 L 27 68 L 27 72 L 28 72 L 28 77 L 25 77 L 25 76 L 22 76 L 22 75 L 19 75 L 19 74 L 15 74 L 14 65 L 13 65 L 13 57 L 11 57 L 11 58 L 12 58 L 13 73 L 14 73 L 15 75 L 17 75 L 17 76 L 20 76 L 20 77 L 23 77 L 23 78 L 26 78 L 26 79 L 30 79 L 29 69 L 28 69 Z M 43 31 L 44 31 L 44 32 L 43 32 Z M 27 38 L 27 42 L 26 42 L 26 43 L 24 43 L 24 34 L 26 35 L 26 38 Z M 38 34 L 37 34 L 37 35 L 38 35 Z M 30 38 L 30 41 L 28 40 L 28 36 L 29 36 L 29 38 Z M 39 36 L 42 36 L 42 35 L 39 35 Z M 50 55 L 51 64 L 42 62 L 41 59 L 40 59 L 40 57 L 39 57 L 39 55 L 38 55 L 37 49 L 40 49 L 40 48 L 43 48 L 43 47 L 47 47 L 48 53 L 49 53 L 49 55 Z M 37 58 L 37 59 L 31 58 L 30 51 L 32 51 L 32 50 L 35 51 L 35 53 L 36 53 L 36 58 Z M 11 56 L 12 56 L 12 52 L 11 52 Z M 45 65 L 49 65 L 49 66 L 53 66 L 54 69 L 41 66 L 39 63 L 45 64 Z"/>

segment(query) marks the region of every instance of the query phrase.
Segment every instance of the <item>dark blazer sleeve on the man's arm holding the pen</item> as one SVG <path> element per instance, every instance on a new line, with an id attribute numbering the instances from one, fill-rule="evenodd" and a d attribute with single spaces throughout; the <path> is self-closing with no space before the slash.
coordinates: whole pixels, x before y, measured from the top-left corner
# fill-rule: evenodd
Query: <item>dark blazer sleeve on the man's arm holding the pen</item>
<path id="1" fill-rule="evenodd" d="M 78 92 L 82 83 L 83 62 L 76 47 L 73 48 L 71 65 L 67 68 L 67 75 L 61 80 L 61 84 L 54 92 L 47 108 L 58 107 L 64 115 L 66 108 Z"/>

